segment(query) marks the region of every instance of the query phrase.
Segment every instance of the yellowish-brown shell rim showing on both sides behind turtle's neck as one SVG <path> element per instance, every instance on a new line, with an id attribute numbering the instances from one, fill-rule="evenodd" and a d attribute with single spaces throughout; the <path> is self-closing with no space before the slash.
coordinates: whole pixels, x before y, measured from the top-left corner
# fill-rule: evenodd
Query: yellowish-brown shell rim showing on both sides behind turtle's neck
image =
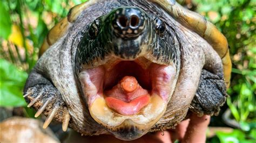
<path id="1" fill-rule="evenodd" d="M 157 3 L 171 16 L 176 18 L 179 23 L 199 34 L 213 47 L 223 63 L 224 80 L 228 88 L 230 85 L 232 63 L 226 37 L 205 17 L 196 12 L 183 8 L 183 6 L 179 5 L 173 0 L 150 1 Z M 41 56 L 51 45 L 58 41 L 58 39 L 68 33 L 69 27 L 71 27 L 72 23 L 76 21 L 84 9 L 97 2 L 97 0 L 90 0 L 71 8 L 68 16 L 51 28 L 39 51 L 39 56 Z"/>

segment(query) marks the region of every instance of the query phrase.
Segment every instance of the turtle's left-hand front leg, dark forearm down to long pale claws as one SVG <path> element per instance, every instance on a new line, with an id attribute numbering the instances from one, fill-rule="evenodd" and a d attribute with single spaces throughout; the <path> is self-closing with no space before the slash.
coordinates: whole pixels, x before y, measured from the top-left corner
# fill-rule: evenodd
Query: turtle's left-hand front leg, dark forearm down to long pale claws
<path id="1" fill-rule="evenodd" d="M 26 81 L 24 98 L 29 103 L 28 107 L 33 106 L 37 110 L 35 117 L 41 115 L 42 112 L 48 115 L 43 128 L 48 127 L 51 120 L 55 118 L 63 122 L 63 131 L 67 130 L 70 115 L 60 92 L 48 79 L 35 70 L 31 72 Z"/>

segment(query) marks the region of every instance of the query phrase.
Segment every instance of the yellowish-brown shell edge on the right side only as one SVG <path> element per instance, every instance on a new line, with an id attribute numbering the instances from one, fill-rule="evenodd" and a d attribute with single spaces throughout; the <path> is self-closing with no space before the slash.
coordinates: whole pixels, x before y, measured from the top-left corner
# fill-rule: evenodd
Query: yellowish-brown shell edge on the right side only
<path id="1" fill-rule="evenodd" d="M 176 18 L 179 23 L 199 34 L 213 47 L 223 63 L 224 80 L 228 88 L 230 85 L 232 63 L 226 37 L 205 17 L 183 8 L 178 3 L 173 4 L 172 0 L 152 0 L 152 2 L 159 4 L 161 8 Z"/>

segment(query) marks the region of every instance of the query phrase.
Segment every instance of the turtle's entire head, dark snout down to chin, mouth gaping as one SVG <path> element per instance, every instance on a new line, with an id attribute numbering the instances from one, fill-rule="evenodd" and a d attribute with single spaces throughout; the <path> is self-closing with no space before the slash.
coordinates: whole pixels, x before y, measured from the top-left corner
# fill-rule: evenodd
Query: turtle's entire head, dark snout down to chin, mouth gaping
<path id="1" fill-rule="evenodd" d="M 93 20 L 78 44 L 78 75 L 90 114 L 117 138 L 147 133 L 164 115 L 179 71 L 171 29 L 136 7 Z"/>

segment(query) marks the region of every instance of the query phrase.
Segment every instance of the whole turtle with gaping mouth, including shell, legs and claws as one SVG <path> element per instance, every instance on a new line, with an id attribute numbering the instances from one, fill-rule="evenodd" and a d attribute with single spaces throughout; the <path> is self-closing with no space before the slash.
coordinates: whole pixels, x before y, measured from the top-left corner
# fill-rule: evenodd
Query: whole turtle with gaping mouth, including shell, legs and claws
<path id="1" fill-rule="evenodd" d="M 84 135 L 133 140 L 188 110 L 218 115 L 231 73 L 227 40 L 175 1 L 88 1 L 54 26 L 24 88 L 29 107 Z"/>

